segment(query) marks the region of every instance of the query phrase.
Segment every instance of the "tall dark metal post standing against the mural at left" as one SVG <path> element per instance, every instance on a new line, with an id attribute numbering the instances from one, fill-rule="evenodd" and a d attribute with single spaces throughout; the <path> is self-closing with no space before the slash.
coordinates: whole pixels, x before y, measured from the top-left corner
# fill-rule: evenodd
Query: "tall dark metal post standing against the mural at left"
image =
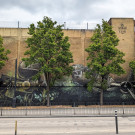
<path id="1" fill-rule="evenodd" d="M 14 86 L 14 97 L 13 97 L 13 108 L 16 107 L 16 80 L 17 80 L 17 59 L 15 60 L 15 86 Z"/>

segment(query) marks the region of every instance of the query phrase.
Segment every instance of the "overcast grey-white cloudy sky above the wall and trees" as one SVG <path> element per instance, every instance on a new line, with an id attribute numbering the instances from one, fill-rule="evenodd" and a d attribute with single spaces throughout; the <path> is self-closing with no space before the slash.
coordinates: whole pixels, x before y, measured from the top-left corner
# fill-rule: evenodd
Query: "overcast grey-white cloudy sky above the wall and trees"
<path id="1" fill-rule="evenodd" d="M 101 23 L 135 16 L 135 0 L 0 0 L 0 22 L 32 23 L 48 16 L 59 23 Z M 0 23 L 2 25 L 2 23 Z"/>

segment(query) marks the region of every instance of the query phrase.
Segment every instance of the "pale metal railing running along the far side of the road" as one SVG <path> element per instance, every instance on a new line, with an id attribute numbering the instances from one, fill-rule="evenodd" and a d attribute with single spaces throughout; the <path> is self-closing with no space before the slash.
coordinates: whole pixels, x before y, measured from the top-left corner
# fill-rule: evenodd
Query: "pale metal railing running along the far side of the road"
<path id="1" fill-rule="evenodd" d="M 46 116 L 135 116 L 135 105 L 89 105 L 89 106 L 9 106 L 0 107 L 1 117 L 46 117 Z"/>

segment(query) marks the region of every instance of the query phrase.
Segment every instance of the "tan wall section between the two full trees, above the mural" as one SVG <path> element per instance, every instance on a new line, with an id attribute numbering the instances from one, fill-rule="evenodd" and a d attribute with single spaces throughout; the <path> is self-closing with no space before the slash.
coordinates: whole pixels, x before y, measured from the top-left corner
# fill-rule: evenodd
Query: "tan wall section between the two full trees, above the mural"
<path id="1" fill-rule="evenodd" d="M 74 64 L 87 65 L 85 48 L 90 44 L 92 30 L 64 30 L 65 36 L 69 37 L 70 50 L 73 53 Z"/>

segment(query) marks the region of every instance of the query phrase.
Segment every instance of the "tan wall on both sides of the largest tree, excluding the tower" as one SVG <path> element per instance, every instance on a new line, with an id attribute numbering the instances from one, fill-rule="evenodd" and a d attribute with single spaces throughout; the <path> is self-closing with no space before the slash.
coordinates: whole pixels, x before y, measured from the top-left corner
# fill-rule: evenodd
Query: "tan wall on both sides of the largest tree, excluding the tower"
<path id="1" fill-rule="evenodd" d="M 73 53 L 73 64 L 86 65 L 86 52 L 85 48 L 88 47 L 90 37 L 93 35 L 92 30 L 63 30 L 64 35 L 69 37 L 71 43 L 70 50 Z M 21 28 L 0 28 L 0 35 L 4 39 L 4 47 L 11 50 L 9 60 L 6 66 L 3 67 L 0 73 L 14 75 L 15 59 L 18 59 L 18 64 L 24 57 L 26 50 L 26 39 L 29 37 L 27 34 L 28 29 Z"/>

